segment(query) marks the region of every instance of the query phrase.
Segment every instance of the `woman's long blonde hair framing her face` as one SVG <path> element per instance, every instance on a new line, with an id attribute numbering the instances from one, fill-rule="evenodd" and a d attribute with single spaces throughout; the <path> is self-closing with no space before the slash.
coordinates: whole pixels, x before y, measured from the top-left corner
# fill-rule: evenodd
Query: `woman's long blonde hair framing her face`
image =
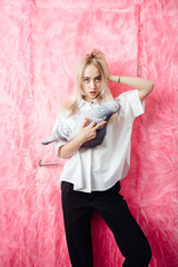
<path id="1" fill-rule="evenodd" d="M 108 78 L 108 65 L 105 59 L 105 55 L 98 50 L 92 49 L 91 53 L 87 53 L 79 62 L 75 75 L 75 91 L 70 101 L 65 103 L 59 111 L 67 110 L 69 116 L 79 111 L 79 103 L 85 97 L 85 92 L 81 88 L 81 81 L 83 72 L 89 65 L 95 65 L 101 73 L 101 88 L 97 97 L 99 103 L 113 100 L 110 89 L 107 83 Z"/>

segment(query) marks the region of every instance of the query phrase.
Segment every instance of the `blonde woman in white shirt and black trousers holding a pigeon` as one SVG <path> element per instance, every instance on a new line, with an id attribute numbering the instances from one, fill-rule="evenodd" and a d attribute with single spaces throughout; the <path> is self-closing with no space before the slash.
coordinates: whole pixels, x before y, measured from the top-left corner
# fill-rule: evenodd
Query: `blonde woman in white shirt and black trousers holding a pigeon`
<path id="1" fill-rule="evenodd" d="M 115 115 L 108 122 L 103 142 L 90 149 L 80 148 L 83 142 L 95 138 L 97 129 L 106 123 L 96 126 L 91 122 L 87 126 L 86 118 L 73 140 L 56 144 L 57 157 L 68 158 L 61 176 L 68 250 L 72 267 L 93 266 L 90 220 L 95 209 L 113 233 L 126 258 L 122 266 L 146 267 L 151 259 L 150 246 L 119 190 L 120 180 L 126 177 L 130 166 L 132 123 L 136 117 L 144 113 L 144 100 L 154 89 L 152 81 L 112 76 L 103 53 L 93 49 L 79 62 L 75 95 L 62 108 L 53 129 L 66 116 L 112 100 L 107 80 L 137 89 L 118 96 L 120 116 Z"/>

